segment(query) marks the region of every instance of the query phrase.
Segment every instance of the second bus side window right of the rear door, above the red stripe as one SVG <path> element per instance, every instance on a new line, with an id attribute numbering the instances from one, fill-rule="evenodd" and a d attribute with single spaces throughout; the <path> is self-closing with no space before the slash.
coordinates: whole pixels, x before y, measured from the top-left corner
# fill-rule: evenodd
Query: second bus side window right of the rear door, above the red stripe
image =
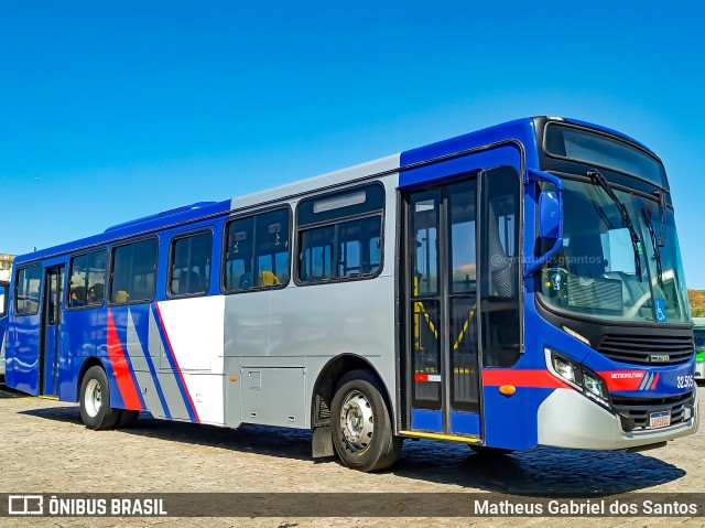
<path id="1" fill-rule="evenodd" d="M 156 250 L 155 238 L 119 246 L 112 250 L 111 303 L 127 304 L 154 299 Z"/>

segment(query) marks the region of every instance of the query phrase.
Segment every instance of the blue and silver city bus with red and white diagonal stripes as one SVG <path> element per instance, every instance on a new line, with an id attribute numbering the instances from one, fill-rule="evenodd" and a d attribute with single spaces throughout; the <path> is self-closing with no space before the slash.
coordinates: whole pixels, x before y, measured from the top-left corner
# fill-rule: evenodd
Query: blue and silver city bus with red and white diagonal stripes
<path id="1" fill-rule="evenodd" d="M 520 119 L 18 257 L 7 382 L 79 402 L 313 430 L 389 467 L 662 445 L 697 428 L 663 164 L 586 122 Z"/>

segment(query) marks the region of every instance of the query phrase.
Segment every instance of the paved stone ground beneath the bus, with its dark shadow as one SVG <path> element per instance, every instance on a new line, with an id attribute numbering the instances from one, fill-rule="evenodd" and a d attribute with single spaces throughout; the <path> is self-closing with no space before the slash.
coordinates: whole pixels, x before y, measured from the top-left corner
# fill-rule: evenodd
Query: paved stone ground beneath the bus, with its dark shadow
<path id="1" fill-rule="evenodd" d="M 699 388 L 703 392 L 703 388 Z M 701 412 L 705 412 L 705 394 Z M 486 461 L 464 444 L 408 441 L 381 474 L 310 457 L 305 431 L 240 430 L 140 418 L 133 429 L 90 431 L 78 407 L 0 387 L 0 492 L 503 492 L 542 495 L 705 491 L 705 431 L 643 453 L 536 448 Z M 399 513 L 403 515 L 403 511 Z M 0 526 L 20 526 L 0 519 Z M 24 526 L 565 526 L 567 518 L 55 518 Z M 582 526 L 704 526 L 705 518 L 582 518 Z"/>

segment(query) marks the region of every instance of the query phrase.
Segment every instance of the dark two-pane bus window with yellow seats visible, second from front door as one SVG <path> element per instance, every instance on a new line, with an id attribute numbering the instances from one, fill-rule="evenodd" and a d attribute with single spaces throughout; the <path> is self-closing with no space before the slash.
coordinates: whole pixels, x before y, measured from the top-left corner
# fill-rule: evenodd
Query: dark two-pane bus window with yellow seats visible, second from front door
<path id="1" fill-rule="evenodd" d="M 230 222 L 226 227 L 224 287 L 227 291 L 289 283 L 288 208 Z"/>

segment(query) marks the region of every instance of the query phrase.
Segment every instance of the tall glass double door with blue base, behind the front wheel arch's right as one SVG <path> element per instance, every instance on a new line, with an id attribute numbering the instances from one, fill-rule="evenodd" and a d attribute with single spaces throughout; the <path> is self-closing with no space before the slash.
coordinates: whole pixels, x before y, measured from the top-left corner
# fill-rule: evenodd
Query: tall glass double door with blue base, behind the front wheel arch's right
<path id="1" fill-rule="evenodd" d="M 414 192 L 405 209 L 405 427 L 479 441 L 477 180 Z"/>

